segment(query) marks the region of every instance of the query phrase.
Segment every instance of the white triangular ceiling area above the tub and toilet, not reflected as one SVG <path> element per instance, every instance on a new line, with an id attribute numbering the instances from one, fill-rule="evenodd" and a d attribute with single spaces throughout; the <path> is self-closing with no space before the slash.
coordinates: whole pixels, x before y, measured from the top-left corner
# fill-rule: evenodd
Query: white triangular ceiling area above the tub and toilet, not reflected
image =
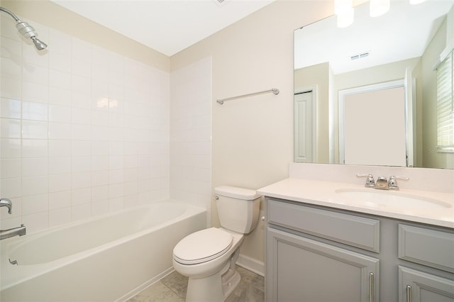
<path id="1" fill-rule="evenodd" d="M 167 56 L 275 0 L 50 0 Z"/>

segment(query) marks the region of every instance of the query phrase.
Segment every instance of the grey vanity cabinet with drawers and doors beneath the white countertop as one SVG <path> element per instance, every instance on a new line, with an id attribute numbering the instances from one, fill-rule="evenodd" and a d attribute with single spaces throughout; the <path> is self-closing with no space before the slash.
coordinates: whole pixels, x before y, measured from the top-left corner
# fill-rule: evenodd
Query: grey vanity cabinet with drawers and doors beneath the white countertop
<path id="1" fill-rule="evenodd" d="M 265 300 L 454 302 L 454 230 L 265 197 Z"/>

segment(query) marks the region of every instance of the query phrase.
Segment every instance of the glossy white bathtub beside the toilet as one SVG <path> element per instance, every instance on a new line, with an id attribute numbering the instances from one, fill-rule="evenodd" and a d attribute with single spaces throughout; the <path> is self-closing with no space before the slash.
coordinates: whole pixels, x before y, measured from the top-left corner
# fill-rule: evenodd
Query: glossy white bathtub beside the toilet
<path id="1" fill-rule="evenodd" d="M 1 240 L 0 301 L 125 301 L 205 227 L 205 209 L 163 201 Z"/>

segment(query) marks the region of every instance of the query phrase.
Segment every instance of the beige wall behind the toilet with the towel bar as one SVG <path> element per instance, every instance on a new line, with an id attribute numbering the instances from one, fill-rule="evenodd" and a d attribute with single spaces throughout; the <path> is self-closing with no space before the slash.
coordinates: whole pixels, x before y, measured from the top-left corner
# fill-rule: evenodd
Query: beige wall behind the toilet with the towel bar
<path id="1" fill-rule="evenodd" d="M 293 31 L 331 13 L 332 1 L 277 0 L 171 57 L 171 70 L 176 70 L 212 56 L 213 187 L 258 189 L 288 177 L 293 159 Z M 216 99 L 273 87 L 279 95 L 216 104 Z M 212 224 L 218 225 L 214 201 L 212 208 Z M 241 249 L 261 262 L 263 228 L 260 220 Z"/>

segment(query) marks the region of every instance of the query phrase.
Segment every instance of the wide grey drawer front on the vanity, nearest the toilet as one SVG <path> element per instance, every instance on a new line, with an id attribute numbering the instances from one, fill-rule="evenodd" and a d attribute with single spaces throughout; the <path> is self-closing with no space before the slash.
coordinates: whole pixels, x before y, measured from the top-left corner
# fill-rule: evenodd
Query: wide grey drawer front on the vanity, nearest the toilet
<path id="1" fill-rule="evenodd" d="M 269 199 L 267 222 L 363 250 L 380 252 L 379 220 Z"/>

